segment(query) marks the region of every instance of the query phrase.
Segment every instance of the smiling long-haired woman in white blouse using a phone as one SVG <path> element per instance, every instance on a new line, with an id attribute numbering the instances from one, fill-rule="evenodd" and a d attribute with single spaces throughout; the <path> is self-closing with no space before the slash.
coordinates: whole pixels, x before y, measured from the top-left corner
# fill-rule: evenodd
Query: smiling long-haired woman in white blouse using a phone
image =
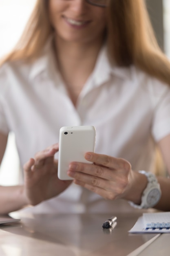
<path id="1" fill-rule="evenodd" d="M 37 1 L 0 70 L 0 157 L 13 130 L 24 165 L 24 185 L 0 187 L 0 213 L 29 204 L 35 212 L 132 211 L 114 199 L 170 210 L 169 179 L 137 172 L 150 170 L 156 144 L 170 172 L 169 81 L 143 0 Z M 85 155 L 94 164 L 70 164 L 74 182 L 57 178 L 54 144 L 70 125 L 97 131 L 96 153 Z"/>

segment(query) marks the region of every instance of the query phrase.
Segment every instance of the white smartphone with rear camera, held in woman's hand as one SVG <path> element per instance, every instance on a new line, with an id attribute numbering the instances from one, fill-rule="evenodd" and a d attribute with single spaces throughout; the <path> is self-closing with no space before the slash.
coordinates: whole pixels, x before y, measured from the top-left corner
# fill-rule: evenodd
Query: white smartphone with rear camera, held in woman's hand
<path id="1" fill-rule="evenodd" d="M 64 126 L 60 129 L 58 178 L 72 180 L 67 175 L 71 162 L 91 163 L 84 158 L 86 152 L 95 150 L 94 126 Z"/>

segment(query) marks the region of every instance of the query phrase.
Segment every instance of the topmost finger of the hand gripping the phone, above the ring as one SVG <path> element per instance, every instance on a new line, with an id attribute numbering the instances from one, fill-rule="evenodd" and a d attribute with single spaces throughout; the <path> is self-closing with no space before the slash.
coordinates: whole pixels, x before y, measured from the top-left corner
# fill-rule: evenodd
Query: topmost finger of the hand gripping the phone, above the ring
<path id="1" fill-rule="evenodd" d="M 124 168 L 126 170 L 129 170 L 131 168 L 130 163 L 123 158 L 116 158 L 108 155 L 96 154 L 93 152 L 87 152 L 84 157 L 88 161 L 91 161 L 95 164 L 100 164 L 102 166 L 106 166 L 108 168 Z"/>

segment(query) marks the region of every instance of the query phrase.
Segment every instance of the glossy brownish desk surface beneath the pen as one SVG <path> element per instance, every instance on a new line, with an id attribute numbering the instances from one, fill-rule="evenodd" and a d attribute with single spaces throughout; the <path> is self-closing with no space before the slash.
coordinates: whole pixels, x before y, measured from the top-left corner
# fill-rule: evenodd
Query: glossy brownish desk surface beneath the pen
<path id="1" fill-rule="evenodd" d="M 0 227 L 0 256 L 126 256 L 156 235 L 128 233 L 141 214 L 117 214 L 111 232 L 102 224 L 112 214 L 21 216 Z"/>

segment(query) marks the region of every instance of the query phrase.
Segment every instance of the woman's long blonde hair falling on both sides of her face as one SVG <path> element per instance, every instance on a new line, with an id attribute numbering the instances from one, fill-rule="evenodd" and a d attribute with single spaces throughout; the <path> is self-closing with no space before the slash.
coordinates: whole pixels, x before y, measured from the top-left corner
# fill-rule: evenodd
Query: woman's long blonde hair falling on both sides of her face
<path id="1" fill-rule="evenodd" d="M 114 60 L 119 66 L 134 64 L 170 84 L 170 62 L 157 44 L 144 0 L 110 0 L 107 18 L 110 62 Z M 48 0 L 37 0 L 22 37 L 2 63 L 38 58 L 52 33 Z"/>

